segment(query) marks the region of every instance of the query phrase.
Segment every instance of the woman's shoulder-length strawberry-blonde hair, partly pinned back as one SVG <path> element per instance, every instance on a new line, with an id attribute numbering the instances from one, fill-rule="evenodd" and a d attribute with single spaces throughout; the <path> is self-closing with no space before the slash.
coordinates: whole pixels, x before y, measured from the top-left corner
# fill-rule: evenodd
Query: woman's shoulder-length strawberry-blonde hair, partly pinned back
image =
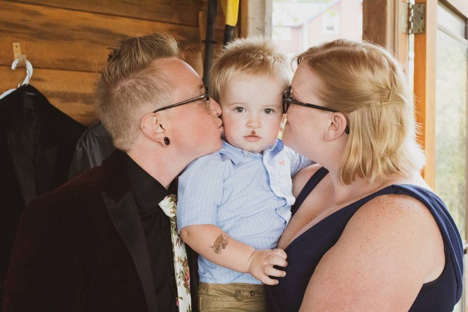
<path id="1" fill-rule="evenodd" d="M 301 62 L 320 78 L 321 101 L 348 120 L 342 183 L 350 184 L 356 175 L 376 181 L 422 169 L 413 99 L 400 64 L 387 50 L 339 39 L 308 49 L 297 56 Z"/>

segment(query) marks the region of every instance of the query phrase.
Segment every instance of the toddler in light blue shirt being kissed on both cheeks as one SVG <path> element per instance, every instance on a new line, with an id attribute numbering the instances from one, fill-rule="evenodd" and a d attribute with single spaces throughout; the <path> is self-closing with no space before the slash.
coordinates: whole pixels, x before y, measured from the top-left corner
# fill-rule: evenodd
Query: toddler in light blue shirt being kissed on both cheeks
<path id="1" fill-rule="evenodd" d="M 223 147 L 179 177 L 177 229 L 200 254 L 200 311 L 266 312 L 262 283 L 275 283 L 270 276 L 282 271 L 273 265 L 287 264 L 274 248 L 294 203 L 291 176 L 312 162 L 277 139 L 289 80 L 271 41 L 234 40 L 210 77 Z"/>

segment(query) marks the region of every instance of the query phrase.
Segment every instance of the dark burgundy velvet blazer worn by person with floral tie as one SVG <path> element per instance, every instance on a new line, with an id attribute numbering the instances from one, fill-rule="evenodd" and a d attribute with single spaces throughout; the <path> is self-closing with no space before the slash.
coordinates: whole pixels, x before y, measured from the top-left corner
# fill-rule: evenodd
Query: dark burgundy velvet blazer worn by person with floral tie
<path id="1" fill-rule="evenodd" d="M 197 311 L 197 255 L 188 255 Z M 158 311 L 152 276 L 137 204 L 113 153 L 25 209 L 3 311 Z"/>

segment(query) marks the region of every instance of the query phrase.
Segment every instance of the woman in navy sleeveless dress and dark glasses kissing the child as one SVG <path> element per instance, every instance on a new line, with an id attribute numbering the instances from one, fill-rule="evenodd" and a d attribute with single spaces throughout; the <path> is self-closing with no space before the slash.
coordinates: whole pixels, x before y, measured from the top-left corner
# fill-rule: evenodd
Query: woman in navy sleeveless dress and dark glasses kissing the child
<path id="1" fill-rule="evenodd" d="M 272 311 L 452 311 L 463 249 L 420 175 L 413 103 L 385 49 L 336 40 L 297 58 L 283 111 L 286 145 L 315 160 L 294 177 L 278 248 L 286 276 Z"/>

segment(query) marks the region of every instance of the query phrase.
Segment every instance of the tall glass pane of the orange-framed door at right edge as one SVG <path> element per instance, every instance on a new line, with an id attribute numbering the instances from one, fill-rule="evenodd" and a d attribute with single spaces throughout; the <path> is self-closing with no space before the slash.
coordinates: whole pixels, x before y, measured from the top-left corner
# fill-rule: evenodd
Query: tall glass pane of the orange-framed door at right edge
<path id="1" fill-rule="evenodd" d="M 435 192 L 444 200 L 462 237 L 467 237 L 466 22 L 437 7 L 435 97 Z"/>

